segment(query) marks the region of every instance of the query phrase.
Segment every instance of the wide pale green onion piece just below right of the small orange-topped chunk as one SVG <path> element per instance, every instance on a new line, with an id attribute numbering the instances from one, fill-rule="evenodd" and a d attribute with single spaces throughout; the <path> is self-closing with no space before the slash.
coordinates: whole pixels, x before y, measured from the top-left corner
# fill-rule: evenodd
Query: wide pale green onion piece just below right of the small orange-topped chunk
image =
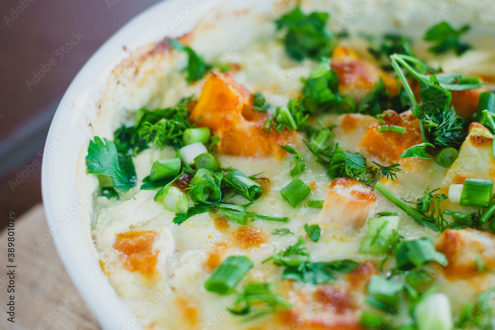
<path id="1" fill-rule="evenodd" d="M 374 255 L 389 252 L 398 242 L 399 219 L 394 215 L 371 219 L 360 252 Z"/>

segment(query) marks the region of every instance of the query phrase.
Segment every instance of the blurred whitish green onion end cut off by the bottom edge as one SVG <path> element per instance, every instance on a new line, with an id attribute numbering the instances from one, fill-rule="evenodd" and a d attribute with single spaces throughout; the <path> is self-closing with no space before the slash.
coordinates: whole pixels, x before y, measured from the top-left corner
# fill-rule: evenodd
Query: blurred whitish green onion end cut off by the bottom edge
<path id="1" fill-rule="evenodd" d="M 418 330 L 452 330 L 450 303 L 443 293 L 433 293 L 421 299 L 414 308 Z"/>

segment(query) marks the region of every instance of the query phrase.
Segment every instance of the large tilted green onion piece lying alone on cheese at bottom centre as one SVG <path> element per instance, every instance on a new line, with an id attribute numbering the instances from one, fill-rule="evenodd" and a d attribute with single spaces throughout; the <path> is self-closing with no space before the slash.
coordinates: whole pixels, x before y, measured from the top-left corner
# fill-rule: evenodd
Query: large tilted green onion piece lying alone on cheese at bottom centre
<path id="1" fill-rule="evenodd" d="M 252 266 L 247 257 L 230 256 L 213 271 L 204 287 L 211 292 L 230 294 Z"/>

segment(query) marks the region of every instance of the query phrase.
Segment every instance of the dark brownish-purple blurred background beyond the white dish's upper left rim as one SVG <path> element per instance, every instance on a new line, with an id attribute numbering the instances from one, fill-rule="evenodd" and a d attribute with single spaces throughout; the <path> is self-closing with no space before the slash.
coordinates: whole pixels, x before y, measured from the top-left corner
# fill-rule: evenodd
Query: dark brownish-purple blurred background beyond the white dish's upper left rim
<path id="1" fill-rule="evenodd" d="M 39 153 L 74 76 L 114 32 L 158 1 L 0 2 L 0 228 L 8 212 L 19 217 L 42 201 Z M 33 76 L 42 69 L 44 77 Z"/>

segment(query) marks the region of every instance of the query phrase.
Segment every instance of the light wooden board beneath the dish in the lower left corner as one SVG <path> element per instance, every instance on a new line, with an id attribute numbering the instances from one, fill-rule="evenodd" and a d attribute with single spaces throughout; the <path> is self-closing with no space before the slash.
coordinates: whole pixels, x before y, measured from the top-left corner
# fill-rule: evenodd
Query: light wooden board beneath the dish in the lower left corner
<path id="1" fill-rule="evenodd" d="M 7 261 L 7 232 L 0 234 L 0 329 L 101 329 L 65 272 L 51 236 L 45 235 L 47 229 L 42 204 L 15 219 L 14 263 Z M 15 323 L 5 314 L 10 269 L 15 270 Z"/>

